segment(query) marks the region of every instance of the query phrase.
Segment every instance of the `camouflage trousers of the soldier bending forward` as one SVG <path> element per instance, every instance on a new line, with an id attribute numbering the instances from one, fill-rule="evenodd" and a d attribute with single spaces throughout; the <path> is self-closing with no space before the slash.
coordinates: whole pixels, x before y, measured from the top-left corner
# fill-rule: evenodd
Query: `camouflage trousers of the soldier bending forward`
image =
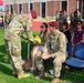
<path id="1" fill-rule="evenodd" d="M 4 40 L 9 61 L 14 71 L 22 71 L 21 43 L 20 40 Z"/>

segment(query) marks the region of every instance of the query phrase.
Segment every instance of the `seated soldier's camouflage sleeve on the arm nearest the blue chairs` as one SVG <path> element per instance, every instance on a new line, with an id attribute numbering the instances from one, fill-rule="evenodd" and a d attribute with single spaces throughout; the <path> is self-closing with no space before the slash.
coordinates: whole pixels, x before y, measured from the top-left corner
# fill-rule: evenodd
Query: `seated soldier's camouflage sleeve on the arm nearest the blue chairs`
<path id="1" fill-rule="evenodd" d="M 59 35 L 60 50 L 51 54 L 52 58 L 61 56 L 66 54 L 66 38 L 65 35 Z M 56 42 L 55 42 L 56 43 Z"/>

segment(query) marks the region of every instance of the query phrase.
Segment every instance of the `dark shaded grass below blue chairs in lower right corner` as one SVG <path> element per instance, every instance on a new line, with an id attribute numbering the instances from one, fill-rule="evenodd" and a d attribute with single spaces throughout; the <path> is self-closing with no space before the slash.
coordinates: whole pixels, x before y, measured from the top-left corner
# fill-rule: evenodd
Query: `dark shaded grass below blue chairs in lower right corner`
<path id="1" fill-rule="evenodd" d="M 71 83 L 84 83 L 83 69 L 71 68 L 69 70 L 65 69 L 64 71 L 63 76 L 65 81 L 70 81 Z"/>

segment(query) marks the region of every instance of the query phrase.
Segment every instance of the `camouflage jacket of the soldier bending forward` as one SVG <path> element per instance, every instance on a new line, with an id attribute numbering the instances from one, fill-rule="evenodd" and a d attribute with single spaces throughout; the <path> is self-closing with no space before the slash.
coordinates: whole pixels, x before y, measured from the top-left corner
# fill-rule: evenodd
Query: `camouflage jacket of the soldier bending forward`
<path id="1" fill-rule="evenodd" d="M 4 30 L 4 39 L 17 40 L 20 37 L 23 37 L 23 33 L 27 32 L 27 37 L 23 38 L 35 42 L 32 35 L 31 23 L 32 22 L 29 19 L 28 14 L 20 14 L 14 17 L 9 23 L 9 27 Z"/>

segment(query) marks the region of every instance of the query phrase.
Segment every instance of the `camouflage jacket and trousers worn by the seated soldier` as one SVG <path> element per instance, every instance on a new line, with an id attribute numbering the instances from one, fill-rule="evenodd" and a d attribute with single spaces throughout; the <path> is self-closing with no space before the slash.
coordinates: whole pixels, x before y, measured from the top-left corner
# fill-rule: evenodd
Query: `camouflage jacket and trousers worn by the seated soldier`
<path id="1" fill-rule="evenodd" d="M 53 59 L 53 70 L 54 70 L 54 76 L 59 77 L 60 72 L 62 70 L 62 63 L 66 59 L 66 38 L 65 35 L 59 31 L 55 35 L 53 33 L 50 33 L 45 45 L 43 48 L 43 52 L 46 52 L 52 55 Z M 35 64 L 39 70 L 43 70 L 43 63 L 41 59 L 41 52 L 39 51 L 35 54 Z"/>

